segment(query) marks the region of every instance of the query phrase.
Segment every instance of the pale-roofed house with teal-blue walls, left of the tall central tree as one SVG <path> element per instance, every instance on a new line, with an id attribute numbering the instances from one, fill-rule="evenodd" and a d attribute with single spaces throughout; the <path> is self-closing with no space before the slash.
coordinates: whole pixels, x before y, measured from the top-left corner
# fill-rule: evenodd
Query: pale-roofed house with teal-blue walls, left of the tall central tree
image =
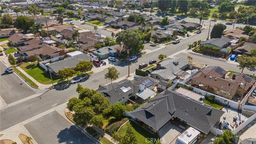
<path id="1" fill-rule="evenodd" d="M 120 45 L 106 46 L 99 50 L 95 50 L 92 53 L 96 56 L 100 56 L 101 59 L 107 59 L 108 57 L 116 57 L 120 53 Z"/>

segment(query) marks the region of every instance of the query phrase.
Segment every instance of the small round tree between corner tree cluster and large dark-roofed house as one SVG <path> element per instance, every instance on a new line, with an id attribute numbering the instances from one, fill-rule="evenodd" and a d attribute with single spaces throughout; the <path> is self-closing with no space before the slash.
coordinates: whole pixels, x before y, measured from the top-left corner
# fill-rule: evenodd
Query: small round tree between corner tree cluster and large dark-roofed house
<path id="1" fill-rule="evenodd" d="M 124 116 L 125 113 L 125 106 L 122 105 L 120 102 L 114 103 L 114 105 L 111 105 L 111 114 L 115 118 L 119 119 Z"/>

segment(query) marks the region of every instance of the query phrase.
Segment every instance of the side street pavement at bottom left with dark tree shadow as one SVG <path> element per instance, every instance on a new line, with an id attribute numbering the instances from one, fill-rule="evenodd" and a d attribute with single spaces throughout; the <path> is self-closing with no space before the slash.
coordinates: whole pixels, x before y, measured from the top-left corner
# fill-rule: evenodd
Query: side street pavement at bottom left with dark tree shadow
<path id="1" fill-rule="evenodd" d="M 37 143 L 94 143 L 57 111 L 24 125 Z"/>

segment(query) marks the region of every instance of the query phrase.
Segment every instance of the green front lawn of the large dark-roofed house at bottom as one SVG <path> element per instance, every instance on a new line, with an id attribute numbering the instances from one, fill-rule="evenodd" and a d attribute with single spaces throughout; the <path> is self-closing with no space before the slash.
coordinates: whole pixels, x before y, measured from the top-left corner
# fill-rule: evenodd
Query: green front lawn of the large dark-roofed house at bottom
<path id="1" fill-rule="evenodd" d="M 139 126 L 138 124 L 130 121 L 128 122 L 132 125 L 133 129 L 135 130 L 135 134 L 138 140 L 138 143 L 151 143 L 151 142 L 146 142 L 146 138 L 155 138 L 156 140 L 159 140 L 159 136 L 157 135 L 157 133 L 155 134 L 151 134 L 148 131 L 144 130 L 141 126 Z M 125 133 L 126 131 L 126 127 L 127 127 L 127 123 L 118 131 L 118 133 Z M 160 143 L 160 141 L 158 141 L 157 143 Z"/>

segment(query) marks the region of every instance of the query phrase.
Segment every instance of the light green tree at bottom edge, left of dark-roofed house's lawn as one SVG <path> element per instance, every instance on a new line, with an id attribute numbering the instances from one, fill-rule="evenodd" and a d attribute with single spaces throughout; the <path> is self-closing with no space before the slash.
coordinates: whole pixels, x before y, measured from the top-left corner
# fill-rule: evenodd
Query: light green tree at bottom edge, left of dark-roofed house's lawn
<path id="1" fill-rule="evenodd" d="M 135 130 L 130 123 L 127 124 L 125 133 L 115 133 L 113 135 L 114 141 L 120 144 L 136 144 L 138 143 Z"/>

